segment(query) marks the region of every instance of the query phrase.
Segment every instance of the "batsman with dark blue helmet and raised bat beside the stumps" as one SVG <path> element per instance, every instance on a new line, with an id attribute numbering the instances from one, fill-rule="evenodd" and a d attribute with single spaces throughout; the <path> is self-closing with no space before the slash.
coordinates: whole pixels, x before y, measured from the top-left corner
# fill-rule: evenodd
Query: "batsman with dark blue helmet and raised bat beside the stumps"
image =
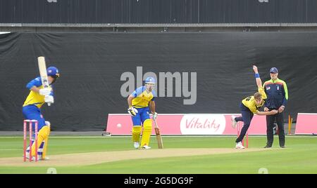
<path id="1" fill-rule="evenodd" d="M 49 85 L 53 84 L 59 77 L 58 69 L 56 67 L 47 68 L 47 76 Z M 54 103 L 54 93 L 51 87 L 44 88 L 40 77 L 37 77 L 27 83 L 26 86 L 30 90 L 23 104 L 23 116 L 25 119 L 35 119 L 38 121 L 37 146 L 40 160 L 48 159 L 46 157 L 47 142 L 50 133 L 50 123 L 45 121 L 41 114 L 41 107 L 44 102 Z M 32 123 L 32 130 L 35 130 L 35 123 Z M 44 142 L 43 142 L 44 141 Z M 32 160 L 35 160 L 35 144 L 32 142 Z M 29 158 L 30 148 L 27 148 L 27 159 Z M 41 157 L 42 154 L 42 157 Z"/>

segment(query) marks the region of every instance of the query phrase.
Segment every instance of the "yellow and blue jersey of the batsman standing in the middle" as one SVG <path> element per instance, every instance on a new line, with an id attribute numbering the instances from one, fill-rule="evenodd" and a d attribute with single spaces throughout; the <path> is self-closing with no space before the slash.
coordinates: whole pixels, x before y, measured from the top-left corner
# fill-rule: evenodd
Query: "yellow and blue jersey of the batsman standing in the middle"
<path id="1" fill-rule="evenodd" d="M 154 90 L 147 92 L 145 86 L 137 88 L 132 94 L 132 106 L 135 108 L 144 108 L 149 106 L 150 101 L 154 101 L 156 93 Z"/>

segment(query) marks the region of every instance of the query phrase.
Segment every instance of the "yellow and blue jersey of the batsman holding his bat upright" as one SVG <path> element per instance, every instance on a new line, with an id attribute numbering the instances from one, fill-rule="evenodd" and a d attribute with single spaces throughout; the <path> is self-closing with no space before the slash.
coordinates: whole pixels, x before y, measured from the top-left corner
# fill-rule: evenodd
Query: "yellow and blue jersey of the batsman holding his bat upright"
<path id="1" fill-rule="evenodd" d="M 33 86 L 36 86 L 37 88 L 43 88 L 42 81 L 40 77 L 37 77 L 36 79 L 33 79 L 29 83 L 27 83 L 27 88 L 30 90 Z M 53 95 L 53 90 L 51 90 L 51 95 Z M 23 107 L 28 105 L 35 105 L 38 108 L 41 108 L 44 104 L 44 96 L 39 95 L 39 93 L 36 93 L 34 91 L 30 91 L 29 95 L 27 95 L 27 98 L 23 104 Z"/>

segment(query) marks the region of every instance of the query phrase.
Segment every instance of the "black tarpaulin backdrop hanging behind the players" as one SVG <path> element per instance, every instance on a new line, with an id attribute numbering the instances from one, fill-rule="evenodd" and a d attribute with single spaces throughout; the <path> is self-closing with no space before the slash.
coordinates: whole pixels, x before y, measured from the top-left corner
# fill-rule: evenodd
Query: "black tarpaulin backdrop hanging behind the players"
<path id="1" fill-rule="evenodd" d="M 12 33 L 0 34 L 0 130 L 22 130 L 25 85 L 39 73 L 37 56 L 60 69 L 55 104 L 42 113 L 52 130 L 102 130 L 109 113 L 126 113 L 123 72 L 197 72 L 197 102 L 157 98 L 160 113 L 239 113 L 256 92 L 251 65 L 262 81 L 278 67 L 291 113 L 316 112 L 316 32 Z M 190 78 L 189 78 L 190 80 Z"/>

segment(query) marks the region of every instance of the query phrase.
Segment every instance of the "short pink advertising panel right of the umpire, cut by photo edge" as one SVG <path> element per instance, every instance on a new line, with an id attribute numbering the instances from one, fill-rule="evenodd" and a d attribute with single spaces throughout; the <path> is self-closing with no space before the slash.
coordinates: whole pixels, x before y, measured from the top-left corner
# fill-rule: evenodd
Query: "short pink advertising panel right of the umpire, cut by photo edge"
<path id="1" fill-rule="evenodd" d="M 295 134 L 317 134 L 317 114 L 298 113 Z"/>

